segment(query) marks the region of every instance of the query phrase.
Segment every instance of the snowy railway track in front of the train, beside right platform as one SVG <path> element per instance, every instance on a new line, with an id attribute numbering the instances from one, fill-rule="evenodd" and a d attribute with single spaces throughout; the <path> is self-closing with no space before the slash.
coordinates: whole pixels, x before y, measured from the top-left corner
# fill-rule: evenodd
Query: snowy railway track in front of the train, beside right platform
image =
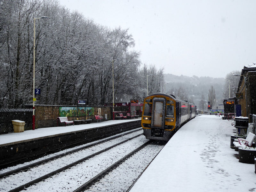
<path id="1" fill-rule="evenodd" d="M 73 192 L 130 191 L 163 147 L 148 141 Z"/>

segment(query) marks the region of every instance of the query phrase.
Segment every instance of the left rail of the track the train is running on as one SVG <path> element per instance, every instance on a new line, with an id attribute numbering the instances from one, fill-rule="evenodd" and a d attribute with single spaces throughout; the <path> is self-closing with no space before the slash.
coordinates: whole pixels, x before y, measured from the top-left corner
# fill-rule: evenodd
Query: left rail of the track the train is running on
<path id="1" fill-rule="evenodd" d="M 84 191 L 86 189 L 89 189 L 89 186 L 91 186 L 91 185 L 93 185 L 93 183 L 99 181 L 105 174 L 107 174 L 109 171 L 113 170 L 116 166 L 118 166 L 119 164 L 124 162 L 127 158 L 129 158 L 134 153 L 136 153 L 138 150 L 140 150 L 141 148 L 144 148 L 146 145 L 150 144 L 151 142 L 152 141 L 149 140 L 148 142 L 144 143 L 140 147 L 136 148 L 131 153 L 129 153 L 128 155 L 124 156 L 122 159 L 118 160 L 116 163 L 112 164 L 111 166 L 109 166 L 107 169 L 105 169 L 104 171 L 102 171 L 101 173 L 99 173 L 98 175 L 93 177 L 91 180 L 89 180 L 86 183 L 84 183 L 82 186 L 80 186 L 79 188 L 77 188 L 73 192 L 81 192 L 81 191 Z"/>

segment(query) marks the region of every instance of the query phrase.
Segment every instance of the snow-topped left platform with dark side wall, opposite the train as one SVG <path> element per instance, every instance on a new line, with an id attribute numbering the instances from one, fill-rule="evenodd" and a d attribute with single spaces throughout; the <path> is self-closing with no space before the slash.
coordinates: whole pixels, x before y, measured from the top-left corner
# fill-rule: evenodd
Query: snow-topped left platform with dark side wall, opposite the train
<path id="1" fill-rule="evenodd" d="M 0 168 L 8 162 L 102 139 L 141 127 L 141 119 L 40 128 L 0 135 Z M 37 156 L 38 157 L 38 156 Z M 25 160 L 24 160 L 25 161 Z"/>

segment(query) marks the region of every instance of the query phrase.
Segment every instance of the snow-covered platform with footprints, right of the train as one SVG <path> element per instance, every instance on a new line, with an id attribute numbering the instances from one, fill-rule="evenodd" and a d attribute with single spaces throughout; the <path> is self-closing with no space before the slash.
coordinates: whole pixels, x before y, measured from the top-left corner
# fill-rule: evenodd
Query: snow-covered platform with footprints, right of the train
<path id="1" fill-rule="evenodd" d="M 183 125 L 130 192 L 256 191 L 254 164 L 230 148 L 231 121 L 203 115 Z"/>

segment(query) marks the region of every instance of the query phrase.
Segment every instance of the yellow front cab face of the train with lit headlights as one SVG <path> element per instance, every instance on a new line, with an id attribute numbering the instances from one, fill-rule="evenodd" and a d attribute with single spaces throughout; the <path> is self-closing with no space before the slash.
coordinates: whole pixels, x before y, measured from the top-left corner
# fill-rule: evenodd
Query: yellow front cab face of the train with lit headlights
<path id="1" fill-rule="evenodd" d="M 144 135 L 152 140 L 169 140 L 175 129 L 175 102 L 165 97 L 144 100 L 141 124 Z"/>

